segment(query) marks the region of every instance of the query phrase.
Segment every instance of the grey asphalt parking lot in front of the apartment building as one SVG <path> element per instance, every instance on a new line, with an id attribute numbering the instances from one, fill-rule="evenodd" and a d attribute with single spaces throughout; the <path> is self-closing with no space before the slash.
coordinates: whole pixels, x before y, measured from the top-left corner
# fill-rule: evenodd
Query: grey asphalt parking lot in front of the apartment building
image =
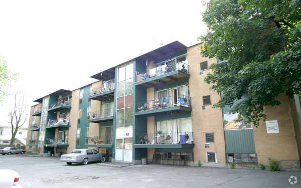
<path id="1" fill-rule="evenodd" d="M 61 163 L 57 157 L 0 155 L 0 168 L 20 174 L 26 187 L 301 187 L 301 172 L 172 165 L 109 167 Z M 1 174 L 0 174 L 1 175 Z M 288 178 L 297 177 L 291 185 Z"/>

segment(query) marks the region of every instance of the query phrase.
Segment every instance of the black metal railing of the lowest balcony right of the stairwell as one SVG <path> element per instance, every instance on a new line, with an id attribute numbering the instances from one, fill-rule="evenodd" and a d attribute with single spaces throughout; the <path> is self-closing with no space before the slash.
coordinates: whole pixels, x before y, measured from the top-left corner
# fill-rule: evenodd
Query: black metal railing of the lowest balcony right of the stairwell
<path id="1" fill-rule="evenodd" d="M 193 144 L 193 133 L 144 133 L 136 134 L 135 140 L 136 144 Z"/>

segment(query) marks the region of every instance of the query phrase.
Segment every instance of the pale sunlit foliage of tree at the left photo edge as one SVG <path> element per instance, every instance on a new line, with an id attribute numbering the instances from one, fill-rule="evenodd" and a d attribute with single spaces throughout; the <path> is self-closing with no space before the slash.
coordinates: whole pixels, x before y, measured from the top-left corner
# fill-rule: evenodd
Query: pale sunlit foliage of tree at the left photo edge
<path id="1" fill-rule="evenodd" d="M 9 94 L 9 89 L 18 76 L 18 73 L 10 73 L 7 61 L 0 56 L 0 104 L 3 102 L 4 97 Z"/>

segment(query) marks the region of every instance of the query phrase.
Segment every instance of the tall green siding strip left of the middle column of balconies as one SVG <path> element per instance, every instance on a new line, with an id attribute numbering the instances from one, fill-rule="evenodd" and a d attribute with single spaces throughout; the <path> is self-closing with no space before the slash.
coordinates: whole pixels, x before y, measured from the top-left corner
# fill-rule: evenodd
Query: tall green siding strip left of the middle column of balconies
<path id="1" fill-rule="evenodd" d="M 76 149 L 78 148 L 88 148 L 88 145 L 85 144 L 85 135 L 86 135 L 86 128 L 89 127 L 88 123 L 88 116 L 87 116 L 87 108 L 91 106 L 91 101 L 88 100 L 89 92 L 90 92 L 91 85 L 88 85 L 80 90 L 84 91 L 84 96 L 82 99 L 82 103 L 79 104 L 79 109 L 82 109 L 82 116 L 80 118 L 80 123 L 77 124 L 77 128 L 80 128 L 80 138 L 79 138 L 79 145 L 76 145 Z"/>

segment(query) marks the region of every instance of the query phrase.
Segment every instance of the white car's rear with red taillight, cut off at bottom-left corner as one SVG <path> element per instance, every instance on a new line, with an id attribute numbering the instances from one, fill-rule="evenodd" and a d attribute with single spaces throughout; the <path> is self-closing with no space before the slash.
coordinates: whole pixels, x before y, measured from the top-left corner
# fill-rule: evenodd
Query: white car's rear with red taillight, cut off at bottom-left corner
<path id="1" fill-rule="evenodd" d="M 0 169 L 0 174 L 1 188 L 22 188 L 19 184 L 20 175 L 18 172 L 10 169 Z"/>

